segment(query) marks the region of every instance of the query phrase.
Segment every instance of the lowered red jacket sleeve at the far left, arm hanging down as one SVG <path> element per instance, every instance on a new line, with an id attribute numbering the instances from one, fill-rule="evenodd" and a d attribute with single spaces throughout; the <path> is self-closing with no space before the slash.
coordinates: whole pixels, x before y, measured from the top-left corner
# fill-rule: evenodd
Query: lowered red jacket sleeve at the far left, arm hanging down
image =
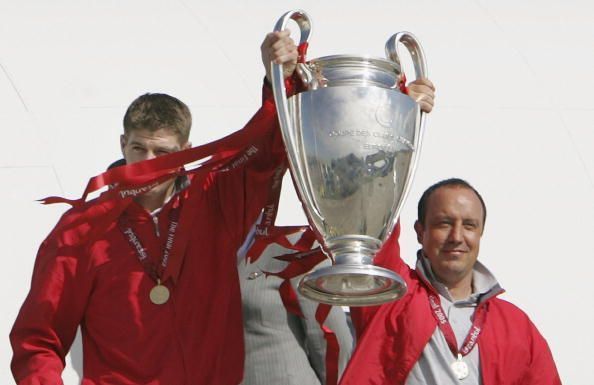
<path id="1" fill-rule="evenodd" d="M 78 258 L 50 235 L 37 254 L 31 288 L 10 333 L 18 385 L 63 384 L 64 358 L 82 319 L 90 280 Z"/>

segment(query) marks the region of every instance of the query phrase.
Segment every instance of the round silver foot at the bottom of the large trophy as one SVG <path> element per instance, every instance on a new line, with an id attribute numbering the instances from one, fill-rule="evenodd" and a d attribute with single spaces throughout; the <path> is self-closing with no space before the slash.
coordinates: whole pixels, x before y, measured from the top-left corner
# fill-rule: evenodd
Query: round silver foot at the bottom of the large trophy
<path id="1" fill-rule="evenodd" d="M 392 270 L 373 265 L 334 265 L 307 274 L 299 282 L 305 297 L 340 306 L 372 306 L 406 293 L 406 282 Z"/>

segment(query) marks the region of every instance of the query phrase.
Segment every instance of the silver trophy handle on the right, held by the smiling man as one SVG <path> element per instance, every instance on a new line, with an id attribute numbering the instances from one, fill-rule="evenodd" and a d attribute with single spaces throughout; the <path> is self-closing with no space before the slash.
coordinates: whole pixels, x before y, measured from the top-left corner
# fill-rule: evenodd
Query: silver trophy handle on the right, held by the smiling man
<path id="1" fill-rule="evenodd" d="M 387 58 L 394 61 L 395 63 L 397 63 L 398 66 L 400 67 L 401 73 L 404 74 L 404 70 L 402 69 L 402 66 L 400 64 L 400 52 L 399 52 L 400 44 L 398 44 L 398 43 L 402 43 L 408 49 L 408 52 L 412 58 L 413 65 L 415 67 L 415 78 L 416 79 L 427 78 L 428 72 L 427 72 L 427 61 L 425 60 L 425 53 L 423 52 L 423 48 L 421 47 L 421 44 L 419 43 L 419 41 L 417 40 L 415 35 L 413 35 L 410 32 L 405 32 L 405 31 L 398 32 L 398 33 L 392 35 L 392 37 L 390 37 L 388 39 L 388 41 L 386 42 L 386 56 L 387 56 Z M 390 230 L 386 234 L 386 239 L 390 236 L 390 233 L 393 231 L 394 227 L 396 226 L 396 222 L 398 222 L 398 219 L 400 217 L 400 210 L 402 208 L 401 206 L 406 201 L 406 198 L 408 197 L 408 193 L 410 192 L 410 187 L 412 185 L 412 178 L 415 175 L 417 164 L 419 162 L 419 155 L 421 154 L 421 143 L 423 141 L 423 134 L 425 133 L 425 121 L 426 120 L 427 120 L 427 114 L 423 111 L 420 111 L 420 121 L 417 125 L 415 125 L 415 142 L 414 142 L 415 150 L 414 150 L 413 159 L 411 162 L 410 172 L 408 174 L 409 177 L 404 183 L 403 191 L 402 191 L 402 199 L 400 200 L 401 203 L 400 203 L 400 206 L 397 207 L 396 210 L 394 211 L 393 218 L 391 221 L 392 230 Z"/>

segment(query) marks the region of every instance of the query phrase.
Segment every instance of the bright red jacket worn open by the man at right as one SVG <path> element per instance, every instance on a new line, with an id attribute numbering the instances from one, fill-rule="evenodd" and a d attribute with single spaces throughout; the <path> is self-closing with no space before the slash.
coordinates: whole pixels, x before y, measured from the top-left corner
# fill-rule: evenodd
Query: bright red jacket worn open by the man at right
<path id="1" fill-rule="evenodd" d="M 400 274 L 408 292 L 399 301 L 352 309 L 362 335 L 341 385 L 405 384 L 437 328 L 429 306 L 430 286 L 400 258 L 398 234 L 399 228 L 375 262 Z M 561 384 L 546 341 L 528 316 L 509 302 L 487 299 L 487 318 L 477 347 L 483 385 Z"/>

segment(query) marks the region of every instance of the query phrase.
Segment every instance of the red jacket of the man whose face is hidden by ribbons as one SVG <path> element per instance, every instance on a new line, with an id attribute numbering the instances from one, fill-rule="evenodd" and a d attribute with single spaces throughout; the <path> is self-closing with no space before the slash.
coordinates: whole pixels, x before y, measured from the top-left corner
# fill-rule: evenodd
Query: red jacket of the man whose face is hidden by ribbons
<path id="1" fill-rule="evenodd" d="M 269 93 L 268 93 L 269 95 Z M 158 263 L 172 199 L 159 232 L 135 203 L 91 201 L 68 211 L 39 249 L 31 289 L 10 334 L 19 385 L 62 384 L 64 357 L 79 325 L 83 385 L 235 385 L 243 374 L 241 297 L 236 251 L 268 198 L 284 156 L 273 102 L 244 130 L 256 159 L 227 172 L 192 178 L 173 253 L 163 276 L 170 300 L 149 300 L 154 281 L 116 224 L 128 219 Z M 123 211 L 122 211 L 123 210 Z M 107 227 L 91 240 L 99 221 Z"/>

